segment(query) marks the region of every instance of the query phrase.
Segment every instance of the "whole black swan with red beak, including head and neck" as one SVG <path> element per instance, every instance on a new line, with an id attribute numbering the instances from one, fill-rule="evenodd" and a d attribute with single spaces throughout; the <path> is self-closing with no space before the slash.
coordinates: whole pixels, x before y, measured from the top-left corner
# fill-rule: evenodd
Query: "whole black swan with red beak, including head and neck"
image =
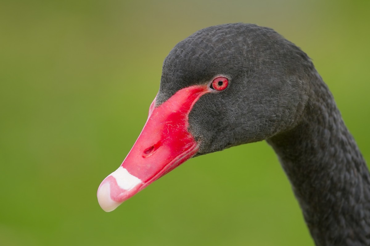
<path id="1" fill-rule="evenodd" d="M 109 212 L 187 159 L 266 140 L 317 246 L 370 245 L 370 174 L 310 58 L 270 28 L 197 31 L 165 58 L 148 120 L 102 181 Z"/>

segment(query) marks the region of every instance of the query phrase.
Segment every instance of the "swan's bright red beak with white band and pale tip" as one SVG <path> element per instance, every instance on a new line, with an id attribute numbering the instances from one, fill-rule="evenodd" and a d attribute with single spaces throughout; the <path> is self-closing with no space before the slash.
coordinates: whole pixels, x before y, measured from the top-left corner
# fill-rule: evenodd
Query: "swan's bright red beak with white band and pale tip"
<path id="1" fill-rule="evenodd" d="M 110 212 L 150 183 L 196 154 L 199 143 L 188 131 L 188 115 L 208 86 L 194 85 L 177 91 L 155 108 L 121 166 L 98 188 L 101 208 Z"/>

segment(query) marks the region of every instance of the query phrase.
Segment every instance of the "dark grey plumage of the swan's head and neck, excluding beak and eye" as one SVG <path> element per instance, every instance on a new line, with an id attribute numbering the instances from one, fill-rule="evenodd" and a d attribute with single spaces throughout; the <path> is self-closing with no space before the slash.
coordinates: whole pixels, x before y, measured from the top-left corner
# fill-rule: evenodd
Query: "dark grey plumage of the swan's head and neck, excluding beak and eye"
<path id="1" fill-rule="evenodd" d="M 166 57 L 156 106 L 217 75 L 229 87 L 203 95 L 189 114 L 196 155 L 266 139 L 316 245 L 370 245 L 369 170 L 309 57 L 270 28 L 208 27 Z"/>

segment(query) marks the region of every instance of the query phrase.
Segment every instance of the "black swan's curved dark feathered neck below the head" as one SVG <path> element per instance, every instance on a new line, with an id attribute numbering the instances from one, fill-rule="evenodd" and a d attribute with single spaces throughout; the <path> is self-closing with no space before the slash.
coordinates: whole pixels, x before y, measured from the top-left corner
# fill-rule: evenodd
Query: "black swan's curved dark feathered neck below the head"
<path id="1" fill-rule="evenodd" d="M 321 78 L 299 123 L 268 143 L 316 245 L 370 245 L 369 169 Z"/>

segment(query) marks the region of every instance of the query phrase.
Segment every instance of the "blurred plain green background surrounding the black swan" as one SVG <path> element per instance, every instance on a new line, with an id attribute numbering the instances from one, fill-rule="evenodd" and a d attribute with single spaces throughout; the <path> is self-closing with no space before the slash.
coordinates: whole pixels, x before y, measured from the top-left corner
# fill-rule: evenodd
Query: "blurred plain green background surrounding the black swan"
<path id="1" fill-rule="evenodd" d="M 368 161 L 370 1 L 1 1 L 0 245 L 313 245 L 266 142 L 189 160 L 106 213 L 162 62 L 196 30 L 274 28 L 313 59 Z"/>

